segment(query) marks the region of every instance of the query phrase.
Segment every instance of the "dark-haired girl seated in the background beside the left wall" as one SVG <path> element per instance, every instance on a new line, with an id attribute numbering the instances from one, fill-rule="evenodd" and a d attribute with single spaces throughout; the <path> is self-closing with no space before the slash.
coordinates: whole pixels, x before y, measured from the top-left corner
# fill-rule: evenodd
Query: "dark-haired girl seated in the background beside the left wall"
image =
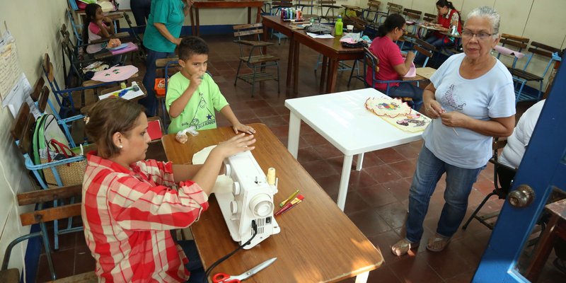
<path id="1" fill-rule="evenodd" d="M 86 21 L 83 26 L 83 39 L 88 43 L 93 40 L 99 40 L 100 38 L 110 38 L 110 35 L 114 34 L 114 23 L 110 18 L 104 16 L 102 13 L 102 8 L 98 4 L 88 4 L 84 9 L 86 13 Z M 108 46 L 110 44 L 110 46 Z M 115 45 L 115 46 L 114 46 Z M 86 46 L 86 52 L 88 54 L 94 54 L 103 51 L 108 47 L 117 47 L 120 45 L 120 40 L 110 40 L 110 42 L 102 42 L 98 44 L 92 44 Z M 106 51 L 106 50 L 104 50 Z"/>

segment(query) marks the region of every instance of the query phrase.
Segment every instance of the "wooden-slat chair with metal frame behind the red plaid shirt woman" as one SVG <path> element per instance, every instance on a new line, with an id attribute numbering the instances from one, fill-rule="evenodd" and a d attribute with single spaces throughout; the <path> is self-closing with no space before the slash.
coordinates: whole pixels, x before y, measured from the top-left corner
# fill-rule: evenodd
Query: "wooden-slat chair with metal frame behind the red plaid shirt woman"
<path id="1" fill-rule="evenodd" d="M 51 257 L 51 248 L 49 237 L 47 234 L 46 223 L 58 219 L 67 219 L 72 216 L 81 216 L 81 203 L 67 204 L 59 207 L 52 207 L 43 209 L 43 204 L 52 202 L 54 200 L 65 199 L 69 197 L 81 197 L 82 185 L 74 185 L 69 187 L 59 187 L 50 190 L 37 190 L 32 192 L 24 192 L 18 194 L 18 205 L 38 205 L 38 210 L 33 212 L 25 212 L 20 214 L 22 226 L 39 224 L 40 231 L 23 235 L 11 241 L 6 248 L 4 254 L 4 262 L 2 262 L 1 270 L 7 270 L 8 262 L 10 261 L 11 251 L 18 243 L 28 240 L 30 238 L 41 237 L 43 248 L 45 248 L 45 258 L 47 259 L 47 266 L 49 267 L 51 279 L 57 279 L 55 274 L 54 262 Z M 82 227 L 81 227 L 82 228 Z M 67 262 L 57 262 L 57 264 L 67 264 Z M 96 278 L 96 276 L 95 276 Z M 16 282 L 19 282 L 19 276 L 16 277 Z M 4 282 L 4 281 L 3 281 Z"/>

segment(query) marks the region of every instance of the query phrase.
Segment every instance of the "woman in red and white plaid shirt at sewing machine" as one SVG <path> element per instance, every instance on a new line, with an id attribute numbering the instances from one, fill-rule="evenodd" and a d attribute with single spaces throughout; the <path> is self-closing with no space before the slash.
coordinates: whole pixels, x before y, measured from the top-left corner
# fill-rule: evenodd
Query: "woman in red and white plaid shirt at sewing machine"
<path id="1" fill-rule="evenodd" d="M 202 282 L 195 244 L 181 248 L 169 230 L 199 219 L 222 161 L 254 149 L 253 136 L 222 142 L 200 166 L 145 160 L 144 108 L 122 98 L 96 103 L 85 131 L 98 152 L 87 154 L 82 217 L 100 282 L 186 282 L 191 272 L 189 282 Z"/>

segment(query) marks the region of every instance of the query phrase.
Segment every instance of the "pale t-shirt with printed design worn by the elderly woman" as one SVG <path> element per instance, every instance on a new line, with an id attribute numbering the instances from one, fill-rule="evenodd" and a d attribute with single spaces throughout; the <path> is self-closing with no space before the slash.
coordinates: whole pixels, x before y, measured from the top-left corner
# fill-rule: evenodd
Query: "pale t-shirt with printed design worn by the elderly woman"
<path id="1" fill-rule="evenodd" d="M 513 79 L 507 67 L 497 60 L 486 74 L 477 79 L 460 76 L 466 54 L 456 54 L 432 75 L 434 98 L 446 112 L 458 111 L 478 120 L 509 117 L 515 114 Z M 492 137 L 470 129 L 442 125 L 434 119 L 422 134 L 427 148 L 442 161 L 461 168 L 479 168 L 492 156 Z"/>

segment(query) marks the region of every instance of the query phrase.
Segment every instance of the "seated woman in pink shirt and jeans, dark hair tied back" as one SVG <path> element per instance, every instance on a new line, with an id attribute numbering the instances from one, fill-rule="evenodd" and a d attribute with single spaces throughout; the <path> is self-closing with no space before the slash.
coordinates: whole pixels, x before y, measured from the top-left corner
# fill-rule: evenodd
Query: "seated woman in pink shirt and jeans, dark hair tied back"
<path id="1" fill-rule="evenodd" d="M 399 80 L 399 76 L 405 76 L 408 73 L 412 60 L 415 59 L 415 53 L 408 52 L 403 58 L 401 50 L 395 44 L 405 33 L 405 18 L 397 13 L 387 16 L 385 23 L 379 26 L 377 37 L 371 42 L 369 50 L 379 59 L 379 71 L 376 79 L 379 81 L 395 81 Z M 371 67 L 369 67 L 371 68 Z M 371 86 L 373 72 L 368 69 L 366 73 L 366 82 Z M 376 83 L 374 85 L 378 91 L 387 93 L 387 83 Z M 422 89 L 412 83 L 389 83 L 388 96 L 391 97 L 410 97 L 414 103 L 413 108 L 419 110 L 422 105 Z"/>

